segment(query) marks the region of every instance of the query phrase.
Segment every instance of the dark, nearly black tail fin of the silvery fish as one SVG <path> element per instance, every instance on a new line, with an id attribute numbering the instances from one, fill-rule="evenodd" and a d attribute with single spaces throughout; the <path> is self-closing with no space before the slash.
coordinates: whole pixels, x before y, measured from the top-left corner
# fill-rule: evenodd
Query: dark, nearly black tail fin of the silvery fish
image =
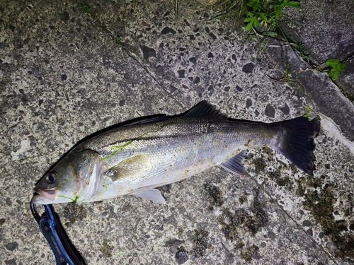
<path id="1" fill-rule="evenodd" d="M 278 143 L 275 150 L 285 156 L 291 163 L 309 175 L 315 170 L 314 138 L 321 127 L 319 118 L 309 121 L 305 117 L 275 122 L 278 131 Z"/>

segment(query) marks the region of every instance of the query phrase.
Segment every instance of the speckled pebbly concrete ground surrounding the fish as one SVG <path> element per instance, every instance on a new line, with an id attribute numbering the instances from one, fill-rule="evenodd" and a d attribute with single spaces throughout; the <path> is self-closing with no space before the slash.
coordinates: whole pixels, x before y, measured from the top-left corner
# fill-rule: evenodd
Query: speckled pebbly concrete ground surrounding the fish
<path id="1" fill-rule="evenodd" d="M 353 264 L 354 110 L 325 73 L 301 71 L 288 53 L 290 86 L 276 81 L 279 47 L 257 57 L 256 42 L 205 23 L 194 1 L 180 1 L 177 21 L 174 1 L 85 4 L 89 14 L 76 1 L 0 3 L 0 264 L 55 264 L 28 203 L 77 141 L 201 100 L 261 122 L 312 107 L 314 177 L 250 150 L 246 177 L 212 168 L 163 187 L 167 206 L 132 196 L 55 205 L 87 264 Z"/>

